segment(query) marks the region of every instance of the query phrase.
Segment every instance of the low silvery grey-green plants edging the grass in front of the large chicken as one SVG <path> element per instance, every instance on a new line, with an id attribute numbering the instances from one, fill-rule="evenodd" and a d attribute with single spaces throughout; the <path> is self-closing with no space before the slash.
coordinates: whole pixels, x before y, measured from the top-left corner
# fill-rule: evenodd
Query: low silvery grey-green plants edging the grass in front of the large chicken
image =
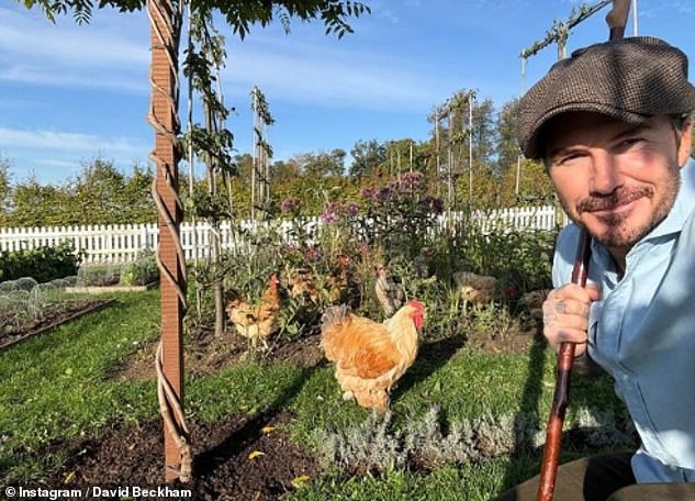
<path id="1" fill-rule="evenodd" d="M 324 467 L 343 475 L 384 474 L 393 469 L 431 471 L 445 465 L 481 463 L 542 445 L 545 433 L 531 413 L 463 419 L 442 425 L 438 405 L 402 428 L 391 412 L 370 413 L 351 426 L 318 427 L 313 433 Z M 579 410 L 570 423 L 585 431 L 591 445 L 625 447 L 632 443 L 629 424 L 618 425 L 612 412 Z"/>

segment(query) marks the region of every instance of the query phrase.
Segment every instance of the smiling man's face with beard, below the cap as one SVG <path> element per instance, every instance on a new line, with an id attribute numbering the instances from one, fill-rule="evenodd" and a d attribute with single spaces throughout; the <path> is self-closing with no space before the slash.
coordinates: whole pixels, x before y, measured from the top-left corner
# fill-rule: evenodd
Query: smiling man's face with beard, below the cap
<path id="1" fill-rule="evenodd" d="M 548 172 L 572 221 L 625 255 L 673 207 L 690 152 L 666 115 L 642 125 L 598 113 L 565 113 L 549 126 Z"/>

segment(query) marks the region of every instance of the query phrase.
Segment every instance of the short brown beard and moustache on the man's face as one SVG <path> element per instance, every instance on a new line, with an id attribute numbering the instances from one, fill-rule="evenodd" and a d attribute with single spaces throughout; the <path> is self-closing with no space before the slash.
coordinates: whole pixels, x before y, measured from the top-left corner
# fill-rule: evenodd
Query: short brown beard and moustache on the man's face
<path id="1" fill-rule="evenodd" d="M 668 182 L 662 186 L 659 193 L 653 187 L 646 186 L 618 188 L 607 196 L 590 196 L 576 204 L 576 213 L 581 218 L 584 212 L 591 214 L 595 211 L 608 211 L 601 215 L 592 214 L 602 223 L 603 230 L 597 233 L 586 227 L 584 223 L 580 223 L 580 226 L 583 226 L 594 240 L 608 248 L 629 249 L 666 218 L 675 202 L 680 186 L 681 177 L 676 169 L 672 176 L 669 176 Z M 617 209 L 641 198 L 648 198 L 654 202 L 651 214 L 643 221 L 632 222 L 635 216 L 629 211 L 626 213 L 609 212 L 612 209 Z"/>

